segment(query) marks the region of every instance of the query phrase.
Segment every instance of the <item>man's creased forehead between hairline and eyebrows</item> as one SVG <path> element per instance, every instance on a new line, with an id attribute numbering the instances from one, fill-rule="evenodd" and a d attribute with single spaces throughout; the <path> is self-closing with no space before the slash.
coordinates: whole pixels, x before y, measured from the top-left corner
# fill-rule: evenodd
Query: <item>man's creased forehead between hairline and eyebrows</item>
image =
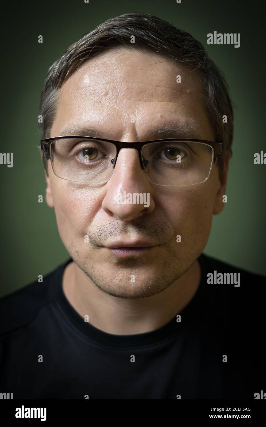
<path id="1" fill-rule="evenodd" d="M 64 82 L 58 101 L 51 136 L 71 126 L 108 128 L 110 139 L 131 133 L 144 138 L 160 124 L 179 123 L 198 133 L 210 127 L 199 74 L 137 50 L 112 49 L 89 59 Z"/>

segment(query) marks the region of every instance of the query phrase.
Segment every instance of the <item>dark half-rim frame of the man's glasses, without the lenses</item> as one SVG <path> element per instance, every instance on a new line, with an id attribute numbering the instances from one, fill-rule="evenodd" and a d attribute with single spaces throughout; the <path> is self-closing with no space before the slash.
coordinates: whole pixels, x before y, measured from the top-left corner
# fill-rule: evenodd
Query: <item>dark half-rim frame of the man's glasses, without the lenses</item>
<path id="1" fill-rule="evenodd" d="M 114 144 L 114 146 L 116 147 L 116 156 L 115 156 L 114 162 L 113 162 L 113 170 L 114 170 L 114 167 L 115 167 L 116 162 L 117 162 L 118 154 L 122 148 L 137 149 L 137 152 L 139 154 L 139 159 L 140 159 L 140 166 L 145 171 L 146 164 L 145 164 L 145 159 L 143 160 L 142 149 L 143 149 L 143 146 L 145 146 L 147 144 L 155 143 L 155 142 L 171 142 L 171 141 L 191 141 L 191 142 L 203 143 L 205 145 L 209 145 L 212 147 L 213 157 L 212 157 L 212 162 L 210 165 L 209 174 L 208 174 L 207 178 L 202 182 L 205 182 L 209 178 L 210 171 L 212 170 L 213 164 L 215 164 L 216 158 L 218 157 L 218 155 L 222 153 L 222 147 L 223 147 L 222 142 L 208 141 L 208 140 L 195 139 L 195 138 L 164 138 L 164 139 L 155 139 L 152 141 L 123 142 L 123 141 L 114 141 L 114 140 L 105 139 L 105 138 L 97 138 L 97 137 L 87 136 L 87 135 L 86 136 L 85 135 L 63 135 L 63 136 L 52 137 L 52 138 L 44 138 L 41 140 L 41 150 L 44 151 L 44 154 L 45 154 L 47 160 L 49 160 L 49 159 L 51 160 L 51 158 L 50 158 L 50 145 L 51 145 L 51 143 L 55 140 L 64 139 L 64 138 L 84 138 L 84 139 L 88 139 L 88 140 L 97 140 L 97 141 L 103 141 L 103 142 L 110 142 L 110 143 Z M 51 161 L 51 164 L 53 167 L 52 161 Z M 56 175 L 54 168 L 53 168 L 53 172 Z M 112 174 L 111 174 L 111 176 L 112 176 Z M 58 176 L 58 175 L 56 175 L 56 176 Z M 110 178 L 111 178 L 111 176 L 110 176 Z M 61 177 L 58 177 L 58 178 L 61 178 Z M 149 179 L 148 175 L 147 175 L 147 178 Z M 66 178 L 61 178 L 61 179 L 66 179 Z M 108 181 L 109 181 L 109 179 L 108 179 Z M 68 180 L 68 181 L 71 181 L 71 180 Z M 104 182 L 108 182 L 108 181 L 104 181 Z M 99 183 L 99 184 L 102 184 L 102 183 Z M 201 184 L 201 183 L 199 182 L 197 184 Z M 164 185 L 164 184 L 155 184 L 155 185 Z M 195 185 L 195 184 L 185 184 L 185 185 Z M 180 186 L 178 186 L 178 185 L 171 186 L 170 185 L 169 187 L 180 187 Z"/>

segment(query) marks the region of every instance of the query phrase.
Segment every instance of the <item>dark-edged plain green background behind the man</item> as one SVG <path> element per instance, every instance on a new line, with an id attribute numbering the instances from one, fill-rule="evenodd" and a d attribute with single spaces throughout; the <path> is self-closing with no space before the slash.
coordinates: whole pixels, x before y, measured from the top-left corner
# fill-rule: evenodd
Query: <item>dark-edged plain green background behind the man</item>
<path id="1" fill-rule="evenodd" d="M 147 12 L 190 32 L 225 74 L 235 131 L 224 211 L 213 217 L 205 253 L 266 275 L 266 165 L 254 165 L 265 143 L 265 15 L 259 1 L 89 0 L 16 2 L 1 20 L 1 144 L 14 166 L 0 165 L 1 289 L 4 295 L 37 280 L 69 255 L 45 196 L 38 152 L 38 104 L 50 65 L 104 20 Z M 214 31 L 240 33 L 241 45 L 207 45 Z M 38 43 L 43 35 L 43 44 Z"/>

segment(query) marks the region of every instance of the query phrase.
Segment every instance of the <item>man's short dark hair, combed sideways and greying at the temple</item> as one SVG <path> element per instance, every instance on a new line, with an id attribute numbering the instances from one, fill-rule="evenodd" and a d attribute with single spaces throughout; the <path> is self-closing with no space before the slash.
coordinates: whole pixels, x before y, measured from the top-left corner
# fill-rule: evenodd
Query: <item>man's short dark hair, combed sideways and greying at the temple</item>
<path id="1" fill-rule="evenodd" d="M 131 42 L 134 35 L 135 41 Z M 228 85 L 219 68 L 208 58 L 203 45 L 188 32 L 147 13 L 126 13 L 110 18 L 73 43 L 49 68 L 41 93 L 39 130 L 42 138 L 50 137 L 58 106 L 58 90 L 85 61 L 116 47 L 155 53 L 172 61 L 188 64 L 202 76 L 202 99 L 216 132 L 216 141 L 224 144 L 219 156 L 222 173 L 225 158 L 231 156 L 233 108 Z M 222 116 L 227 116 L 223 123 Z M 48 161 L 43 153 L 48 175 Z"/>

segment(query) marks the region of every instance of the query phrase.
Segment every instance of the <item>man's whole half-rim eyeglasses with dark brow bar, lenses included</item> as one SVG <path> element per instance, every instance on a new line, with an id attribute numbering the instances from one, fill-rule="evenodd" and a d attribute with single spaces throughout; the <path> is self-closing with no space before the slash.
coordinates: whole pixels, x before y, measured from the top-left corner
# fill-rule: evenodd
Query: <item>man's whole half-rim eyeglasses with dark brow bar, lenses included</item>
<path id="1" fill-rule="evenodd" d="M 83 184 L 104 184 L 113 172 L 122 148 L 137 149 L 140 166 L 152 184 L 170 187 L 206 181 L 222 143 L 188 138 L 121 142 L 70 135 L 41 140 L 58 178 Z"/>

